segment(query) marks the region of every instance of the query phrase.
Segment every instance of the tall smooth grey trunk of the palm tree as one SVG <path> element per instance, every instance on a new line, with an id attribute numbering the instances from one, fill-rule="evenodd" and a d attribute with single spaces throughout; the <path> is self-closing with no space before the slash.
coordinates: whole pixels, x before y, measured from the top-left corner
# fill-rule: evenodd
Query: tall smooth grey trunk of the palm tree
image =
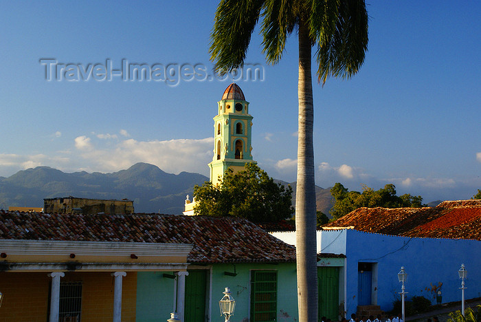
<path id="1" fill-rule="evenodd" d="M 313 89 L 311 39 L 306 25 L 299 23 L 299 133 L 298 178 L 295 193 L 295 240 L 298 270 L 300 322 L 317 321 L 317 253 L 313 148 Z"/>

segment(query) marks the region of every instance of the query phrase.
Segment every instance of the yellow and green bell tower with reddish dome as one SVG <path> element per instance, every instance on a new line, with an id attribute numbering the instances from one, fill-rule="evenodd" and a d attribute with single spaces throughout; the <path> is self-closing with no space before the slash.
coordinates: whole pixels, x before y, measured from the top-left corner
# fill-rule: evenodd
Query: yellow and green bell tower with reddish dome
<path id="1" fill-rule="evenodd" d="M 234 172 L 254 162 L 251 154 L 252 116 L 249 102 L 237 84 L 229 85 L 217 103 L 214 117 L 214 157 L 209 163 L 210 181 L 219 184 L 228 168 Z"/>

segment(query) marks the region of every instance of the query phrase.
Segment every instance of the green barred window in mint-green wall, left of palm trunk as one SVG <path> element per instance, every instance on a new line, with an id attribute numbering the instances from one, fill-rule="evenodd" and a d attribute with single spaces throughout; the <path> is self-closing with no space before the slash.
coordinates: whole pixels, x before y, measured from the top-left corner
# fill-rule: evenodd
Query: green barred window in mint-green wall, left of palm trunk
<path id="1" fill-rule="evenodd" d="M 277 271 L 251 271 L 251 322 L 277 321 Z"/>

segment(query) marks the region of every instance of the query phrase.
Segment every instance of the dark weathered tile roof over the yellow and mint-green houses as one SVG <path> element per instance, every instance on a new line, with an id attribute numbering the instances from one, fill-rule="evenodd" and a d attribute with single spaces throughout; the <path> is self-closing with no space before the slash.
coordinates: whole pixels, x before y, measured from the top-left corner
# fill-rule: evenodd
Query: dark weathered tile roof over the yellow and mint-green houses
<path id="1" fill-rule="evenodd" d="M 295 261 L 295 248 L 242 218 L 0 211 L 0 239 L 193 244 L 190 263 Z"/>

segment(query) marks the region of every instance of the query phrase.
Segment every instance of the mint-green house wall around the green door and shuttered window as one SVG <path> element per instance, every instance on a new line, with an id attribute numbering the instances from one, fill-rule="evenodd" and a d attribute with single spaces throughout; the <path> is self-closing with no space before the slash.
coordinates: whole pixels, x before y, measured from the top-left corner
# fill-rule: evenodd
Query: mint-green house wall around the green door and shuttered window
<path id="1" fill-rule="evenodd" d="M 219 312 L 219 300 L 226 287 L 231 289 L 236 299 L 236 310 L 232 321 L 249 321 L 250 312 L 250 274 L 251 270 L 276 270 L 278 272 L 278 321 L 297 321 L 298 298 L 296 295 L 297 280 L 295 263 L 287 264 L 236 264 L 236 276 L 225 275 L 234 273 L 233 264 L 214 264 L 211 266 L 192 266 L 192 269 L 208 269 L 212 272 L 208 287 L 210 290 L 210 321 L 223 321 Z M 174 272 L 139 272 L 137 274 L 137 320 L 141 322 L 166 321 L 170 317 L 174 304 L 175 280 L 163 277 Z M 201 321 L 199 321 L 201 322 Z"/>

